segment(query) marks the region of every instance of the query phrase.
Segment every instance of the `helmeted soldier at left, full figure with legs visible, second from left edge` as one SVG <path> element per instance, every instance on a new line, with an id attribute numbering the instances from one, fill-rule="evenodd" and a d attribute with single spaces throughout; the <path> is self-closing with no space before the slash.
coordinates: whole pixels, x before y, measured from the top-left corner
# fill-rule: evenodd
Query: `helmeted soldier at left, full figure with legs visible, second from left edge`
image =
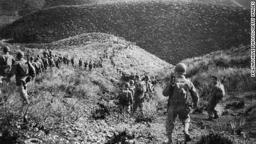
<path id="1" fill-rule="evenodd" d="M 31 77 L 36 75 L 35 67 L 24 59 L 24 53 L 17 53 L 17 62 L 8 74 L 8 80 L 16 75 L 16 85 L 18 86 L 19 95 L 23 98 L 23 104 L 28 104 L 27 83 L 31 81 Z"/>

